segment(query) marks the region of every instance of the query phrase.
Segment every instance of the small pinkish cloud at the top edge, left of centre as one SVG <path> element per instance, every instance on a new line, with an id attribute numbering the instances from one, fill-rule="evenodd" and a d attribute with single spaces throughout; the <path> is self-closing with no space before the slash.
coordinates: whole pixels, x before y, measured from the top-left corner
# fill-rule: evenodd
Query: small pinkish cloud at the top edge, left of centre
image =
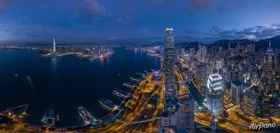
<path id="1" fill-rule="evenodd" d="M 97 18 L 105 15 L 105 6 L 99 4 L 97 0 L 84 0 L 84 4 L 86 6 L 86 9 L 89 11 L 90 15 Z"/>

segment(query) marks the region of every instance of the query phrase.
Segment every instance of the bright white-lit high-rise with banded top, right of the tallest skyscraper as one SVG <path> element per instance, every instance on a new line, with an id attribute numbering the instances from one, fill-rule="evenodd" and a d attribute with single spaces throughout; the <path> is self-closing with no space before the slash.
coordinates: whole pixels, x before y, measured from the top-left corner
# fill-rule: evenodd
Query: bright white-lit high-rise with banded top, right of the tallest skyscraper
<path id="1" fill-rule="evenodd" d="M 206 105 L 209 113 L 218 115 L 223 112 L 223 81 L 220 74 L 210 74 L 207 80 Z"/>

